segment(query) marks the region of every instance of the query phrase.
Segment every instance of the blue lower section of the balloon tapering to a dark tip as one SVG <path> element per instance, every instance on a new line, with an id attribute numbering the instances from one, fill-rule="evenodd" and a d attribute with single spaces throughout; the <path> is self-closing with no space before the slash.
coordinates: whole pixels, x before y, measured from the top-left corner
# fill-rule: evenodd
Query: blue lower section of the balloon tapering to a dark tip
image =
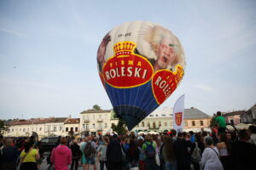
<path id="1" fill-rule="evenodd" d="M 106 91 L 114 112 L 125 120 L 129 130 L 159 106 L 154 99 L 151 81 L 136 88 L 113 88 L 106 83 Z"/>

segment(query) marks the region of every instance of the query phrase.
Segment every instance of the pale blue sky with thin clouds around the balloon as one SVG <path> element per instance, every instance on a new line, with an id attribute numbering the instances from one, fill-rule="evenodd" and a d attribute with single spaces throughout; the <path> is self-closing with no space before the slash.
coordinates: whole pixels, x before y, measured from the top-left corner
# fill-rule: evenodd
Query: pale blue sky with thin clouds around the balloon
<path id="1" fill-rule="evenodd" d="M 0 119 L 79 117 L 112 109 L 96 66 L 108 31 L 149 20 L 171 30 L 186 55 L 185 94 L 208 115 L 256 104 L 256 1 L 0 0 Z"/>

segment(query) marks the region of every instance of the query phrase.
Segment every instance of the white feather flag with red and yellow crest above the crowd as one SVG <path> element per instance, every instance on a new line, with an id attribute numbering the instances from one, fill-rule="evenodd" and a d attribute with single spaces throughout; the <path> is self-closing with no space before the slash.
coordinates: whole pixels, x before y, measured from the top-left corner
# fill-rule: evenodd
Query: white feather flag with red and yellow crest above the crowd
<path id="1" fill-rule="evenodd" d="M 183 132 L 184 127 L 184 98 L 185 94 L 179 97 L 173 107 L 173 128 L 179 132 Z"/>

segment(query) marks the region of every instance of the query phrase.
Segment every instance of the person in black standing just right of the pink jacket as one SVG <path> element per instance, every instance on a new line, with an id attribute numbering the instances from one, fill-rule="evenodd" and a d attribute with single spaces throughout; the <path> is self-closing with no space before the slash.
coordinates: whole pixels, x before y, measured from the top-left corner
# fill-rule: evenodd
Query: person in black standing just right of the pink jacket
<path id="1" fill-rule="evenodd" d="M 75 167 L 75 170 L 78 170 L 78 168 L 79 168 L 79 159 L 81 157 L 81 150 L 79 148 L 79 144 L 78 144 L 77 139 L 73 139 L 73 144 L 71 144 L 70 149 L 72 151 L 71 170 L 73 170 L 73 167 Z"/>

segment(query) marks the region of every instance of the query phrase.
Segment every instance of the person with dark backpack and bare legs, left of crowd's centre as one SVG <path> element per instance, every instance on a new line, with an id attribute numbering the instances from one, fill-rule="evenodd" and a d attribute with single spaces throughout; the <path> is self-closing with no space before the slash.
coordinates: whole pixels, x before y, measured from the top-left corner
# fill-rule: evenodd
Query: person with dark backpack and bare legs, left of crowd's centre
<path id="1" fill-rule="evenodd" d="M 91 136 L 87 136 L 87 142 L 82 145 L 81 150 L 83 152 L 82 164 L 83 164 L 84 170 L 88 170 L 90 165 L 92 165 L 94 170 L 96 170 L 96 161 L 95 161 L 96 143 L 92 141 Z"/>

